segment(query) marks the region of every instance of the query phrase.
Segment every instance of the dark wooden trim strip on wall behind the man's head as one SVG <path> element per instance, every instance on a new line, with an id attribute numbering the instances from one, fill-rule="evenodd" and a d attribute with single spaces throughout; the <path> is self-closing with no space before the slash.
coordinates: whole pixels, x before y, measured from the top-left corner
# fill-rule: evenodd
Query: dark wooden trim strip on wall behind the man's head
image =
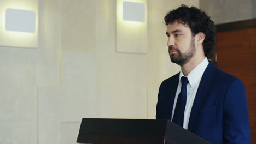
<path id="1" fill-rule="evenodd" d="M 215 25 L 216 32 L 230 31 L 233 29 L 242 29 L 242 28 L 249 28 L 249 27 L 256 27 L 256 19 L 222 23 L 222 24 Z"/>

